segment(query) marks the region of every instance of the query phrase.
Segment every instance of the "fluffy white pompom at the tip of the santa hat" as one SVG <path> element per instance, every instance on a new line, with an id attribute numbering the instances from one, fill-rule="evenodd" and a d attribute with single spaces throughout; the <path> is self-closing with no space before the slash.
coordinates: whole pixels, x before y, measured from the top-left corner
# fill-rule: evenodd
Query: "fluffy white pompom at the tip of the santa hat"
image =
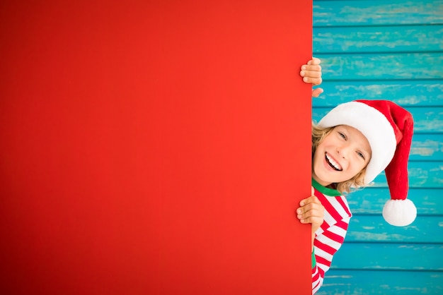
<path id="1" fill-rule="evenodd" d="M 417 217 L 417 208 L 411 200 L 388 200 L 383 207 L 383 217 L 391 225 L 405 227 Z"/>

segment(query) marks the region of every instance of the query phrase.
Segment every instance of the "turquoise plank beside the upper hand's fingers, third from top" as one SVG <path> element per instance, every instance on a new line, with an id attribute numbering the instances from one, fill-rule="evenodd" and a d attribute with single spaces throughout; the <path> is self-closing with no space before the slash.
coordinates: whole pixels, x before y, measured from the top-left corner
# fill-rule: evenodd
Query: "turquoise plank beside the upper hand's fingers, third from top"
<path id="1" fill-rule="evenodd" d="M 443 54 L 316 54 L 322 59 L 324 80 L 441 79 Z"/>

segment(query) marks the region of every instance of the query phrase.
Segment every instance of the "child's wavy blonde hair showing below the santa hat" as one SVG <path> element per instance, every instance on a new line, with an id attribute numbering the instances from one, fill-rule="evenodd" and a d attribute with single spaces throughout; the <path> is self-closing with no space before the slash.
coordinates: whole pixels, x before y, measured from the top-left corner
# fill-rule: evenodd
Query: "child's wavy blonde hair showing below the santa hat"
<path id="1" fill-rule="evenodd" d="M 314 122 L 312 122 L 312 158 L 314 152 L 316 152 L 318 145 L 323 141 L 323 139 L 326 138 L 326 136 L 328 136 L 331 131 L 333 131 L 334 128 L 335 126 L 320 128 L 316 126 Z M 366 167 L 364 167 L 362 171 L 359 171 L 357 175 L 352 177 L 352 179 L 339 183 L 334 183 L 335 189 L 337 189 L 337 191 L 339 191 L 340 193 L 350 193 L 351 189 L 355 190 L 367 186 L 367 184 L 364 183 L 364 174 L 366 173 Z"/>

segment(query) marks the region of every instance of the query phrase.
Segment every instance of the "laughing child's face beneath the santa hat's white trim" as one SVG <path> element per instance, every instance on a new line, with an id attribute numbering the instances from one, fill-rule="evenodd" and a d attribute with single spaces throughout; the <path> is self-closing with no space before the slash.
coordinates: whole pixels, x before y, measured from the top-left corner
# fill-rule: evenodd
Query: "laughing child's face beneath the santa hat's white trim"
<path id="1" fill-rule="evenodd" d="M 371 155 L 369 142 L 360 131 L 335 126 L 313 154 L 313 179 L 322 186 L 352 179 L 366 167 Z"/>

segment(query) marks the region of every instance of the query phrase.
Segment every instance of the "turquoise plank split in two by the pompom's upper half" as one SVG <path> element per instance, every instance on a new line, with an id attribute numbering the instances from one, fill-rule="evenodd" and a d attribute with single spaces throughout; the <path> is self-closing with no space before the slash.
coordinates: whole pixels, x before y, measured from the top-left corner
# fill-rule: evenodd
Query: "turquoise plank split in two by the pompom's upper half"
<path id="1" fill-rule="evenodd" d="M 443 188 L 410 188 L 408 198 L 417 207 L 418 215 L 443 215 Z M 389 200 L 389 189 L 364 188 L 346 196 L 354 215 L 381 215 L 381 210 Z"/>

